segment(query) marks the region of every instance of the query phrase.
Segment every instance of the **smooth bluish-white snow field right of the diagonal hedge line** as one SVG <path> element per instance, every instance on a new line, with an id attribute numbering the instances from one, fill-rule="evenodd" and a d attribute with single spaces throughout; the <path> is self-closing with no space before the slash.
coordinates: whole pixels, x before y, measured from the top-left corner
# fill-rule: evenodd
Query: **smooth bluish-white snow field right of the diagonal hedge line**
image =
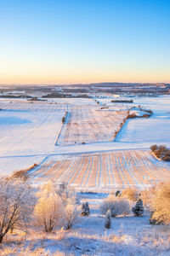
<path id="1" fill-rule="evenodd" d="M 129 119 L 117 142 L 158 143 L 170 146 L 170 96 L 134 98 L 133 105 L 153 111 L 149 119 Z"/>

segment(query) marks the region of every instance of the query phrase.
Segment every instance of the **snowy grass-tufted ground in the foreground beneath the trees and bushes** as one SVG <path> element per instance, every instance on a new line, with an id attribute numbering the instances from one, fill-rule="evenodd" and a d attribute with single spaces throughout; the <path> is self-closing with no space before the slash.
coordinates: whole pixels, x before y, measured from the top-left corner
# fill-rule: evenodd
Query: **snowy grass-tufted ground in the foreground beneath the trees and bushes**
<path id="1" fill-rule="evenodd" d="M 107 195 L 81 194 L 88 201 L 91 214 L 80 217 L 69 231 L 54 230 L 45 234 L 33 227 L 28 234 L 8 234 L 0 248 L 1 255 L 113 255 L 143 256 L 170 254 L 169 227 L 151 226 L 149 215 L 112 218 L 111 230 L 105 230 L 105 216 L 99 205 Z M 19 235 L 20 234 L 20 235 Z M 21 254 L 21 255 L 23 255 Z"/>

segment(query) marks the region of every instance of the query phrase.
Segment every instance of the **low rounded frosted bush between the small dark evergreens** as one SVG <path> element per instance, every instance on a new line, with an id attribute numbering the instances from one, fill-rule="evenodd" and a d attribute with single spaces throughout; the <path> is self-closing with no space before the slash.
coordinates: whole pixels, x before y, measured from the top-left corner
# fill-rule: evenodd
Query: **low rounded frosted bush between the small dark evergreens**
<path id="1" fill-rule="evenodd" d="M 106 214 L 108 210 L 111 210 L 111 217 L 127 215 L 130 212 L 130 204 L 126 198 L 110 195 L 102 202 L 100 207 L 102 214 Z"/>

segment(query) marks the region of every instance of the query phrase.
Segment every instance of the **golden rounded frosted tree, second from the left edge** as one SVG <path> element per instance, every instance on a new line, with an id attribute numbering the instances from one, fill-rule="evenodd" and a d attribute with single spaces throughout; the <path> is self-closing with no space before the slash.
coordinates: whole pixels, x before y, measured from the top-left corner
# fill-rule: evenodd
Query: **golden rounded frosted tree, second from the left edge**
<path id="1" fill-rule="evenodd" d="M 37 226 L 43 227 L 45 232 L 51 232 L 56 226 L 64 224 L 65 208 L 59 195 L 44 189 L 38 193 L 38 197 L 34 209 Z"/>

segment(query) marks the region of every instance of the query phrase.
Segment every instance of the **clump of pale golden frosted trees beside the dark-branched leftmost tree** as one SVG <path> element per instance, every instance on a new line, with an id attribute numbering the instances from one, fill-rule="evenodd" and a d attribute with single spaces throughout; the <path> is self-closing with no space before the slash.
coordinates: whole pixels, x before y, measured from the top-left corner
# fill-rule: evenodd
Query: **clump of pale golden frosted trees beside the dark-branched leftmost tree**
<path id="1" fill-rule="evenodd" d="M 39 199 L 34 215 L 38 226 L 43 227 L 45 232 L 60 226 L 71 229 L 80 212 L 73 190 L 68 189 L 65 183 L 59 185 L 58 189 L 54 183 L 48 182 L 37 196 Z"/>

